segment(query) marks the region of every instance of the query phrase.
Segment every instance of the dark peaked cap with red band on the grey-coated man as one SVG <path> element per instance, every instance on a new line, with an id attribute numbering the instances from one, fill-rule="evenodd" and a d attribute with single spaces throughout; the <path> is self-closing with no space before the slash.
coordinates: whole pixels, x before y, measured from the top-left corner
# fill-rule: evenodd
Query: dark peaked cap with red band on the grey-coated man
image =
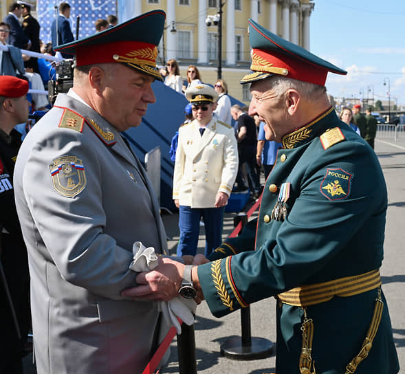
<path id="1" fill-rule="evenodd" d="M 54 50 L 76 55 L 76 66 L 122 63 L 162 80 L 156 58 L 165 19 L 163 10 L 153 10 Z"/>

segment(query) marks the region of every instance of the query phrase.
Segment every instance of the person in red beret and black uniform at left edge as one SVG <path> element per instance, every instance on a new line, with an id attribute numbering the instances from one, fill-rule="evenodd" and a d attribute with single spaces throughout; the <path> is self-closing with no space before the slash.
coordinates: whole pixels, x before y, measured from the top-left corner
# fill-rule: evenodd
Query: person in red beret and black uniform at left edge
<path id="1" fill-rule="evenodd" d="M 27 250 L 14 201 L 13 173 L 27 122 L 28 82 L 0 76 L 0 373 L 22 373 L 21 360 L 30 328 L 30 274 Z"/>

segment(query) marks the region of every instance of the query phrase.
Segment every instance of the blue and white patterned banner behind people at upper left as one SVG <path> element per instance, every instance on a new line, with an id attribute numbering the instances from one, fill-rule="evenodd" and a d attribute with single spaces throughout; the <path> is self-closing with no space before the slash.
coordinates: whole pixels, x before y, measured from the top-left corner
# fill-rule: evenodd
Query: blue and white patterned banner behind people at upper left
<path id="1" fill-rule="evenodd" d="M 41 25 L 40 38 L 48 43 L 51 38 L 51 25 L 56 15 L 59 14 L 58 6 L 61 1 L 38 0 L 38 21 Z M 80 17 L 78 39 L 85 38 L 96 33 L 94 23 L 102 18 L 107 19 L 110 14 L 116 15 L 116 0 L 72 0 L 67 1 L 72 7 L 70 11 L 70 25 L 76 39 L 76 21 Z M 56 8 L 55 8 L 56 7 Z"/>

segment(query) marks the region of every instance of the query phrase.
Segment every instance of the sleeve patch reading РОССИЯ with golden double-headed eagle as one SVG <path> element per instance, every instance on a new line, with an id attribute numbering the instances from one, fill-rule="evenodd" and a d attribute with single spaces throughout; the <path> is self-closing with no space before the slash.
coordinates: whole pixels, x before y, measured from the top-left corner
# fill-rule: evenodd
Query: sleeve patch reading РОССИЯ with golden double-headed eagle
<path id="1" fill-rule="evenodd" d="M 325 177 L 320 184 L 320 193 L 328 200 L 347 199 L 351 190 L 353 174 L 341 168 L 327 168 Z"/>

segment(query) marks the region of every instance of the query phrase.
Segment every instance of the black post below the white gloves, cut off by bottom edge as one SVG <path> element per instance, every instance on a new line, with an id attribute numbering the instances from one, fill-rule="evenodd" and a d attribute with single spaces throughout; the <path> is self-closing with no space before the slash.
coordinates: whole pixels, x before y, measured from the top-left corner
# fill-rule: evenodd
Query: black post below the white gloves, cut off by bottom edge
<path id="1" fill-rule="evenodd" d="M 194 325 L 182 324 L 182 333 L 177 335 L 177 353 L 179 355 L 179 374 L 197 374 Z"/>

